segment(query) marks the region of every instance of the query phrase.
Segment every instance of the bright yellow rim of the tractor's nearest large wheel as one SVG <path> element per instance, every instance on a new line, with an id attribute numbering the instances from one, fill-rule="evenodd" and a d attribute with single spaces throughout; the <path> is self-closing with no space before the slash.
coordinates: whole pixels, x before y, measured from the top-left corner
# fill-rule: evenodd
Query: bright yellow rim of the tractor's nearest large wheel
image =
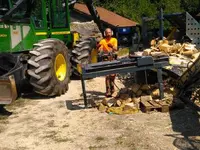
<path id="1" fill-rule="evenodd" d="M 59 81 L 65 80 L 67 74 L 67 63 L 63 54 L 58 54 L 54 62 L 54 70 Z"/>

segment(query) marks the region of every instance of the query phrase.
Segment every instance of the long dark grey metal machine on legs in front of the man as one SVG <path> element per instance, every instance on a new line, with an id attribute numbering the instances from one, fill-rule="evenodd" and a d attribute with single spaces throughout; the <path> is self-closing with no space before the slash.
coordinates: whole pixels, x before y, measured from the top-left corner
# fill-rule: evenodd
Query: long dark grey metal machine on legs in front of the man
<path id="1" fill-rule="evenodd" d="M 144 57 L 145 61 L 146 57 Z M 142 66 L 138 65 L 138 60 L 141 59 L 123 59 L 112 62 L 100 62 L 96 64 L 87 64 L 82 66 L 81 85 L 84 97 L 84 105 L 87 107 L 88 101 L 86 96 L 85 79 L 106 76 L 117 73 L 132 73 L 137 71 L 144 71 L 149 69 L 157 69 L 157 79 L 159 84 L 160 99 L 164 98 L 162 68 L 169 65 L 168 60 L 163 59 L 159 62 L 151 62 Z"/>

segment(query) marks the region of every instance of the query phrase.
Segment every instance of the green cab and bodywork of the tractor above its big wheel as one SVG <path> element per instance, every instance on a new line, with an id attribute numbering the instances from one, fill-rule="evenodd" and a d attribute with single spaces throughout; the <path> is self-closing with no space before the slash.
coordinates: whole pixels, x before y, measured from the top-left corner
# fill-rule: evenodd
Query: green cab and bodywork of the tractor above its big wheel
<path id="1" fill-rule="evenodd" d="M 46 38 L 71 41 L 66 0 L 0 1 L 0 51 L 30 50 Z"/>

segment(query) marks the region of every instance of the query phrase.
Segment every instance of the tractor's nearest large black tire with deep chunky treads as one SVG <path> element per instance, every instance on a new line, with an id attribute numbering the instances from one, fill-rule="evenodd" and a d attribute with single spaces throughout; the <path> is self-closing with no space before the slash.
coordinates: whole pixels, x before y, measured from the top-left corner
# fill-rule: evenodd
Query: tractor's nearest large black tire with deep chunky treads
<path id="1" fill-rule="evenodd" d="M 71 71 L 68 49 L 65 43 L 58 39 L 45 39 L 34 44 L 34 46 L 33 50 L 30 51 L 31 58 L 28 60 L 27 71 L 33 90 L 47 96 L 64 94 L 68 90 Z M 55 61 L 58 56 L 63 56 L 62 60 L 66 62 L 66 67 L 64 67 L 66 74 L 62 80 L 59 80 L 60 78 L 56 76 Z M 61 64 L 59 65 L 61 66 Z"/>

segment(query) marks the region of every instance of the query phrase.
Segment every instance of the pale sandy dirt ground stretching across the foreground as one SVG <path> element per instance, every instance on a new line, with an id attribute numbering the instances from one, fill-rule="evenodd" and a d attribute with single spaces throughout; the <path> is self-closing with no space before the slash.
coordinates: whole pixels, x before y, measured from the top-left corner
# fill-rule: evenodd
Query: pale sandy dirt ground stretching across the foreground
<path id="1" fill-rule="evenodd" d="M 119 80 L 116 84 L 123 87 Z M 188 107 L 169 113 L 101 113 L 83 108 L 79 80 L 69 87 L 57 98 L 22 99 L 6 107 L 12 114 L 0 117 L 0 150 L 200 149 L 199 113 Z M 86 81 L 86 90 L 101 99 L 104 78 Z M 68 109 L 70 101 L 80 105 Z"/>

